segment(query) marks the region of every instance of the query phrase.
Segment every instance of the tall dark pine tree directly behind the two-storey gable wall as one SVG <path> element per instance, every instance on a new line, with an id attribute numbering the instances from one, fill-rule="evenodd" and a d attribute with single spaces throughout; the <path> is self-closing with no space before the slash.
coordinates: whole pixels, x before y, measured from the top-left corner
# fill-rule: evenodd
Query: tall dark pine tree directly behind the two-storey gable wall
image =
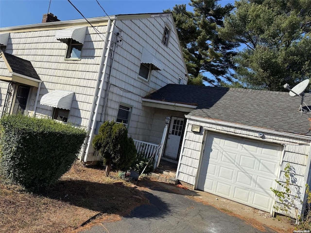
<path id="1" fill-rule="evenodd" d="M 218 28 L 223 27 L 223 19 L 233 9 L 231 4 L 222 7 L 218 0 L 191 0 L 194 12 L 186 10 L 186 5 L 175 5 L 172 12 L 177 33 L 183 48 L 189 72 L 189 84 L 203 82 L 218 85 L 223 80 L 231 81 L 231 58 L 238 43 L 218 36 Z"/>

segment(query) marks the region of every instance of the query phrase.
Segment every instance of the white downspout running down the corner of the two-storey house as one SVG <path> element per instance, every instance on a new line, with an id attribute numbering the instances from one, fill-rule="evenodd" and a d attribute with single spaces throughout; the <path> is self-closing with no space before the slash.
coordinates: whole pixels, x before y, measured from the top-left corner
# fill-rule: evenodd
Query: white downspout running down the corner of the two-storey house
<path id="1" fill-rule="evenodd" d="M 95 92 L 95 94 L 94 94 L 93 104 L 92 104 L 92 108 L 91 108 L 91 117 L 89 118 L 89 123 L 88 123 L 87 129 L 86 129 L 87 132 L 89 131 L 89 129 L 91 129 L 91 131 L 88 134 L 88 139 L 86 139 L 87 140 L 86 147 L 84 147 L 83 152 L 82 152 L 82 156 L 80 159 L 80 161 L 83 160 L 84 162 L 87 161 L 87 153 L 88 153 L 88 150 L 89 150 L 89 147 L 91 144 L 92 135 L 94 133 L 94 126 L 95 126 L 96 118 L 97 118 L 97 114 L 98 114 L 98 107 L 99 107 L 99 103 L 100 103 L 100 99 L 101 99 L 101 95 L 102 95 L 102 91 L 103 91 L 103 86 L 104 86 L 105 70 L 107 67 L 107 61 L 109 58 L 109 54 L 107 54 L 105 61 L 104 61 L 104 55 L 107 51 L 109 52 L 109 50 L 110 50 L 111 37 L 112 37 L 113 33 L 112 32 L 110 33 L 109 38 L 108 38 L 108 33 L 111 30 L 111 26 L 112 26 L 111 20 L 109 19 L 108 20 L 108 28 L 107 28 L 107 36 L 106 36 L 106 39 L 104 41 L 103 53 L 102 53 L 102 57 L 101 57 L 101 61 L 100 61 L 100 67 L 99 67 L 98 76 L 97 76 L 96 90 L 99 89 L 99 91 Z M 108 42 L 108 44 L 107 44 L 107 42 Z M 107 48 L 107 49 L 105 49 L 105 48 Z M 103 64 L 103 61 L 104 61 L 104 64 Z M 103 69 L 103 66 L 104 66 L 104 69 Z M 101 72 L 102 69 L 103 69 L 103 75 Z M 102 77 L 102 82 L 100 83 L 101 77 Z M 97 96 L 98 96 L 98 98 L 96 100 Z M 94 107 L 95 107 L 95 109 L 94 109 Z M 94 111 L 93 111 L 93 109 L 94 109 Z M 94 114 L 93 114 L 93 112 L 94 112 Z M 93 114 L 93 116 L 92 116 L 92 114 Z"/>

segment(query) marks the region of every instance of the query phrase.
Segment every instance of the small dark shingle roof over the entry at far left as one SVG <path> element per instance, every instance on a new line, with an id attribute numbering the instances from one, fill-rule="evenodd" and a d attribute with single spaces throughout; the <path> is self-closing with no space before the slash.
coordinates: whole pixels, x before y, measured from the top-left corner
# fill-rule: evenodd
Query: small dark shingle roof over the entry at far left
<path id="1" fill-rule="evenodd" d="M 33 67 L 30 61 L 6 52 L 3 52 L 3 55 L 6 58 L 13 72 L 40 80 L 39 75 L 35 71 L 35 68 Z"/>

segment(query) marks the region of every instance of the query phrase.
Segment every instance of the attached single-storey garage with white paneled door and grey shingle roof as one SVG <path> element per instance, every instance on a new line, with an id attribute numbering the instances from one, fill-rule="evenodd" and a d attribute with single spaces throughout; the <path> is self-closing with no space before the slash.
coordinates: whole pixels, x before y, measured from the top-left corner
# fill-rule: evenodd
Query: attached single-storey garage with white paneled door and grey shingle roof
<path id="1" fill-rule="evenodd" d="M 311 121 L 306 112 L 298 111 L 299 97 L 288 92 L 168 84 L 143 101 L 189 109 L 185 118 L 181 112 L 172 115 L 182 118 L 184 132 L 180 135 L 178 126 L 169 130 L 169 137 L 181 137 L 179 181 L 271 214 L 303 216 L 305 204 L 299 200 L 297 210 L 276 211 L 278 200 L 270 189 L 282 190 L 275 180 L 285 182 L 284 168 L 290 163 L 292 194 L 306 202 Z M 304 101 L 311 103 L 309 93 Z"/>

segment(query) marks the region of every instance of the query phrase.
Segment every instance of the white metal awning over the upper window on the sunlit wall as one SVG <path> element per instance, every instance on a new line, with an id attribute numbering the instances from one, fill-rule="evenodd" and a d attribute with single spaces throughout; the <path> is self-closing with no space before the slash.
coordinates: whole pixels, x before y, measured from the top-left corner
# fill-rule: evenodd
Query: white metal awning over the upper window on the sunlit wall
<path id="1" fill-rule="evenodd" d="M 84 44 L 84 40 L 86 38 L 86 27 L 57 30 L 55 38 L 66 44 L 68 44 L 69 39 Z"/>

